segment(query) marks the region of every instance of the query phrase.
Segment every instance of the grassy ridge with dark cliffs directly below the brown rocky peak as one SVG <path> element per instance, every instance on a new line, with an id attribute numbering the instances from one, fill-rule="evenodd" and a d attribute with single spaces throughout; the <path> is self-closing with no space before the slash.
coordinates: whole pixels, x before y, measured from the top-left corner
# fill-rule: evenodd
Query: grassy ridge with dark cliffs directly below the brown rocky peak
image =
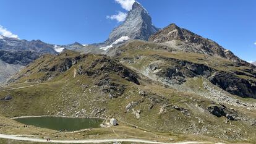
<path id="1" fill-rule="evenodd" d="M 145 41 L 130 41 L 111 49 L 108 55 L 171 87 L 181 85 L 189 78 L 204 77 L 231 94 L 256 98 L 256 69 L 247 62 L 186 53 L 166 44 Z"/>

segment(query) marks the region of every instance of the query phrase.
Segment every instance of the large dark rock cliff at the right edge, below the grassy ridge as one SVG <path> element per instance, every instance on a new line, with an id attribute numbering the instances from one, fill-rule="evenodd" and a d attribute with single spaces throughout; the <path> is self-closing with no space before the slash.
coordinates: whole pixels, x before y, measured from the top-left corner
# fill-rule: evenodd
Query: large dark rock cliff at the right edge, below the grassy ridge
<path id="1" fill-rule="evenodd" d="M 256 98 L 256 82 L 241 78 L 231 72 L 219 71 L 212 75 L 210 82 L 233 95 Z"/>

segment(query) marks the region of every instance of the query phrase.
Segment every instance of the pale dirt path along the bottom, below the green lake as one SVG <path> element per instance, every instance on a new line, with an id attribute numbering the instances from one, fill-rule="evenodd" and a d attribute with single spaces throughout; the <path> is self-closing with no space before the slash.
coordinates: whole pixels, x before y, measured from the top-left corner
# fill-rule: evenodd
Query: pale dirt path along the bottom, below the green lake
<path id="1" fill-rule="evenodd" d="M 4 135 L 0 134 L 0 138 L 11 139 L 11 140 L 21 140 L 29 142 L 40 142 L 40 143 L 109 143 L 109 142 L 135 142 L 135 143 L 153 143 L 153 144 L 192 144 L 192 143 L 203 143 L 203 142 L 179 142 L 179 143 L 163 143 L 163 142 L 153 142 L 150 140 L 140 140 L 134 138 L 120 138 L 120 139 L 103 139 L 103 140 L 51 140 L 47 142 L 40 138 L 28 138 L 28 137 L 17 137 L 17 135 Z"/>

